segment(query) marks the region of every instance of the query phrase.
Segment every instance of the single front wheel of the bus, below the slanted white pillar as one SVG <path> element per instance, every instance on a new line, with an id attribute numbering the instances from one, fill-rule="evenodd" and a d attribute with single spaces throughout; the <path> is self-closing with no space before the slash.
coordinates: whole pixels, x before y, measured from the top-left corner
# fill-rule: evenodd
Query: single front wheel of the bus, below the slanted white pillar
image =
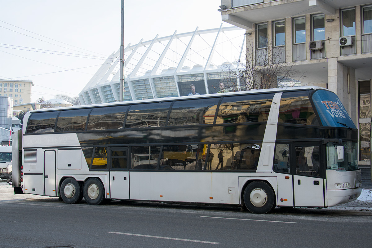
<path id="1" fill-rule="evenodd" d="M 243 194 L 244 205 L 252 213 L 269 213 L 275 208 L 275 194 L 269 184 L 253 181 Z"/>

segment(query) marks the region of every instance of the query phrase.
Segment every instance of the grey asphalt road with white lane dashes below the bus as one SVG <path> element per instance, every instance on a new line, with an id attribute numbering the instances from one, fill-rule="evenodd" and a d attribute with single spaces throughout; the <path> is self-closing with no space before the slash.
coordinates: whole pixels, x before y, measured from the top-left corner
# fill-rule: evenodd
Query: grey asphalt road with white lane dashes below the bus
<path id="1" fill-rule="evenodd" d="M 0 247 L 372 247 L 370 211 L 0 200 Z"/>

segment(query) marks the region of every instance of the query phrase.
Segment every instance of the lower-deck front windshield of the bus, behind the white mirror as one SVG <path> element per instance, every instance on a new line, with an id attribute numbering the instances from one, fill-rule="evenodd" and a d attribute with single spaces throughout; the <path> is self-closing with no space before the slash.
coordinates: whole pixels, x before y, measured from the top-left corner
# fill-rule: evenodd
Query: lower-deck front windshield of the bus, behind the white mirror
<path id="1" fill-rule="evenodd" d="M 327 170 L 355 171 L 358 170 L 357 142 L 344 141 L 344 154 L 337 153 L 337 146 L 332 142 L 326 144 Z"/>

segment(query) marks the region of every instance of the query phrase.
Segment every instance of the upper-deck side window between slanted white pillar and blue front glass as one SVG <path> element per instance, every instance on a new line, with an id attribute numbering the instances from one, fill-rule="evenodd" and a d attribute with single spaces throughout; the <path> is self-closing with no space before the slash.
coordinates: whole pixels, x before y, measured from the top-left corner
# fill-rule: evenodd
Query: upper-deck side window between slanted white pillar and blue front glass
<path id="1" fill-rule="evenodd" d="M 278 123 L 319 126 L 307 93 L 285 92 L 282 94 Z"/>

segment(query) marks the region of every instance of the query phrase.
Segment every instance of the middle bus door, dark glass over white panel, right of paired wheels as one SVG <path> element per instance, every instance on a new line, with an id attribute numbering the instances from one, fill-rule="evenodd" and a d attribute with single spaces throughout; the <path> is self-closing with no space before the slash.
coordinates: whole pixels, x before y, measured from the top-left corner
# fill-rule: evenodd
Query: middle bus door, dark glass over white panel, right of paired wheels
<path id="1" fill-rule="evenodd" d="M 129 199 L 128 147 L 110 149 L 110 198 Z"/>

